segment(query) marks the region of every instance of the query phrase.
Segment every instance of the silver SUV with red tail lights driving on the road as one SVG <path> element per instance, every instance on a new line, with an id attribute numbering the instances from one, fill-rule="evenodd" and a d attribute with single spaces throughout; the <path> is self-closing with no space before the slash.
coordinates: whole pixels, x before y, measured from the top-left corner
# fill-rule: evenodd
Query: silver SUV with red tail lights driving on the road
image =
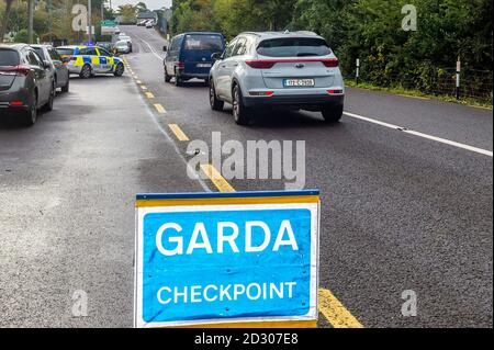
<path id="1" fill-rule="evenodd" d="M 338 59 L 314 33 L 243 33 L 213 59 L 211 108 L 233 104 L 237 124 L 248 124 L 261 106 L 318 111 L 329 123 L 341 118 L 345 87 Z"/>

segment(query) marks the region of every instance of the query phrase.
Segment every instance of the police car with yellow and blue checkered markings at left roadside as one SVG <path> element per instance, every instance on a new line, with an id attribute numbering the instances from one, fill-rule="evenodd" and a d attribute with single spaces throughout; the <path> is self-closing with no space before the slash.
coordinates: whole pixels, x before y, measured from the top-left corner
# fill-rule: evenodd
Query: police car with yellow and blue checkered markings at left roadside
<path id="1" fill-rule="evenodd" d="M 83 79 L 97 74 L 122 77 L 125 70 L 121 58 L 99 46 L 60 46 L 56 50 L 65 58 L 69 72 Z"/>

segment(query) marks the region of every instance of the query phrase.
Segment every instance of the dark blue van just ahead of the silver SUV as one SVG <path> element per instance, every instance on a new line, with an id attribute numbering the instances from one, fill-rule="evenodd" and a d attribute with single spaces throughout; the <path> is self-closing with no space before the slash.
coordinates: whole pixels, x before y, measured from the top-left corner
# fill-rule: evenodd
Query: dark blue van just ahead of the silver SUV
<path id="1" fill-rule="evenodd" d="M 215 53 L 225 50 L 225 37 L 221 33 L 190 32 L 175 36 L 164 60 L 165 81 L 175 77 L 176 86 L 193 78 L 207 82 Z"/>

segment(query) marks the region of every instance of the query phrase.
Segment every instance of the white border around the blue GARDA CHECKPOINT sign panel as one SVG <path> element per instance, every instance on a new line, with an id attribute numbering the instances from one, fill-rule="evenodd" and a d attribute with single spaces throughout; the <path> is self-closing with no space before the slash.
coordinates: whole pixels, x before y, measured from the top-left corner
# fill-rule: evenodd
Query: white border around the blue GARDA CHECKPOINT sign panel
<path id="1" fill-rule="evenodd" d="M 262 200 L 261 197 L 259 199 Z M 287 197 L 290 201 L 290 197 Z M 205 200 L 206 202 L 206 200 Z M 144 206 L 136 207 L 136 235 L 135 235 L 135 261 L 134 261 L 134 327 L 135 328 L 166 328 L 201 325 L 244 324 L 244 323 L 272 323 L 318 319 L 318 267 L 319 267 L 319 203 L 287 203 L 287 204 L 198 204 L 180 206 Z M 222 319 L 194 319 L 187 321 L 146 323 L 143 319 L 143 263 L 144 256 L 143 236 L 144 217 L 154 213 L 183 213 L 183 212 L 231 212 L 231 211 L 266 211 L 266 210 L 293 210 L 306 208 L 311 212 L 311 282 L 310 282 L 310 308 L 304 316 L 285 317 L 251 317 L 251 318 L 222 318 Z"/>

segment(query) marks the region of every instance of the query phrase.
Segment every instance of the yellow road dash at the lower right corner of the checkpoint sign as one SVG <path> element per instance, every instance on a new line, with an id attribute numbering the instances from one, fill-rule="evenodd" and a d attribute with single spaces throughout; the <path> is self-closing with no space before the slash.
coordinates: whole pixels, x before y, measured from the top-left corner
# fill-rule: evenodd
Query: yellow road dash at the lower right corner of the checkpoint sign
<path id="1" fill-rule="evenodd" d="M 319 289 L 319 312 L 327 318 L 335 328 L 363 328 L 353 315 L 336 298 L 336 296 L 325 289 Z"/>

